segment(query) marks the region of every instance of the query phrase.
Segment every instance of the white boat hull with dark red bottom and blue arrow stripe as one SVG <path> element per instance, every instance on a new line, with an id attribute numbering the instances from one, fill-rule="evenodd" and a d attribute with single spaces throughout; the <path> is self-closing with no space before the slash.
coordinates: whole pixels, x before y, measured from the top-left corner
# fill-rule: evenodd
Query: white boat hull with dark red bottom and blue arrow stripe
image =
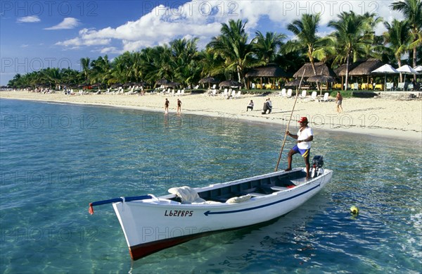
<path id="1" fill-rule="evenodd" d="M 302 169 L 292 170 L 298 172 Z M 301 171 L 303 172 L 303 170 Z M 288 173 L 278 172 L 243 180 L 196 188 L 198 194 L 236 187 L 250 182 L 270 182 Z M 305 203 L 331 180 L 332 171 L 312 180 L 271 194 L 252 194 L 240 203 L 181 204 L 171 195 L 141 201 L 123 201 L 113 204 L 124 232 L 132 259 L 140 259 L 156 251 L 173 247 L 224 230 L 263 223 L 278 218 Z"/>

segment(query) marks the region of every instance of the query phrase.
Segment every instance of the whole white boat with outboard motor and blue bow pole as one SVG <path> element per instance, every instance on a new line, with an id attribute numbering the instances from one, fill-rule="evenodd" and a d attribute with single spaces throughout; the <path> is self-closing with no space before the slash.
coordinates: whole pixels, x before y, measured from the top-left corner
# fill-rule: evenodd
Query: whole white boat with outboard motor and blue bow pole
<path id="1" fill-rule="evenodd" d="M 305 168 L 278 171 L 207 187 L 174 187 L 172 194 L 122 197 L 89 204 L 113 203 L 132 259 L 222 230 L 266 222 L 293 211 L 331 180 L 315 156 L 312 178 Z"/>

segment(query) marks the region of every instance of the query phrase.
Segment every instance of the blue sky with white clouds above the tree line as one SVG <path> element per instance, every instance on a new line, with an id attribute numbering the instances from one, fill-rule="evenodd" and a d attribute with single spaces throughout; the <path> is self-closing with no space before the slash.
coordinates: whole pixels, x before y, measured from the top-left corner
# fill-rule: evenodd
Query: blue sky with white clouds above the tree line
<path id="1" fill-rule="evenodd" d="M 222 23 L 248 20 L 255 31 L 279 32 L 293 39 L 286 25 L 302 13 L 321 13 L 320 35 L 341 11 L 377 13 L 389 22 L 402 15 L 384 1 L 0 1 L 0 85 L 16 73 L 58 67 L 80 70 L 79 59 L 146 46 L 177 38 L 199 37 L 202 49 L 219 35 Z M 381 34 L 382 24 L 377 27 Z"/>

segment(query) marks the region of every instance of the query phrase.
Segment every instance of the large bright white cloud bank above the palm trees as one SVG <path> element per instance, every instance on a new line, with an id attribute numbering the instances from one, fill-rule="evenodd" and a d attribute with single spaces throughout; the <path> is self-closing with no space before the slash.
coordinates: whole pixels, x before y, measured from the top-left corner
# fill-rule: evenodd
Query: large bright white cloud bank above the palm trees
<path id="1" fill-rule="evenodd" d="M 128 21 L 117 27 L 105 27 L 100 30 L 84 28 L 75 38 L 57 42 L 56 45 L 71 48 L 73 46 L 104 46 L 98 51 L 123 52 L 136 51 L 147 46 L 155 46 L 183 37 L 200 37 L 199 46 L 205 46 L 210 39 L 219 35 L 221 24 L 229 20 L 248 20 L 246 31 L 255 36 L 257 25 L 276 25 L 279 33 L 292 35 L 286 30 L 288 23 L 300 19 L 303 13 L 320 13 L 321 30 L 326 33 L 326 24 L 336 20 L 343 11 L 378 13 L 383 18 L 394 18 L 399 13 L 390 11 L 388 1 L 191 1 L 176 6 L 156 6 L 150 13 L 138 20 Z M 180 3 L 180 2 L 174 2 Z M 64 21 L 63 21 L 64 22 Z M 62 23 L 60 23 L 62 24 Z M 59 24 L 59 25 L 60 25 Z M 57 27 L 57 26 L 56 26 Z M 378 25 L 378 32 L 381 31 Z M 265 29 L 260 30 L 265 32 Z M 122 43 L 122 48 L 110 46 L 113 39 Z"/>

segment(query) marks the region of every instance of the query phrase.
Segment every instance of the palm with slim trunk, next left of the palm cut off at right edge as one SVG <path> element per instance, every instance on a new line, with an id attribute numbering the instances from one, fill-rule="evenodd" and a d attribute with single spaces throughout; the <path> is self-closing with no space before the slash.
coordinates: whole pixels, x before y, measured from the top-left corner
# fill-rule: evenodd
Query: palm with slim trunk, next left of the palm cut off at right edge
<path id="1" fill-rule="evenodd" d="M 388 22 L 384 23 L 386 32 L 383 33 L 385 37 L 385 47 L 388 51 L 394 54 L 399 67 L 402 66 L 402 55 L 409 50 L 409 44 L 411 44 L 411 35 L 409 23 L 407 21 L 393 20 L 391 25 Z M 400 82 L 402 82 L 402 73 L 400 73 Z"/>

